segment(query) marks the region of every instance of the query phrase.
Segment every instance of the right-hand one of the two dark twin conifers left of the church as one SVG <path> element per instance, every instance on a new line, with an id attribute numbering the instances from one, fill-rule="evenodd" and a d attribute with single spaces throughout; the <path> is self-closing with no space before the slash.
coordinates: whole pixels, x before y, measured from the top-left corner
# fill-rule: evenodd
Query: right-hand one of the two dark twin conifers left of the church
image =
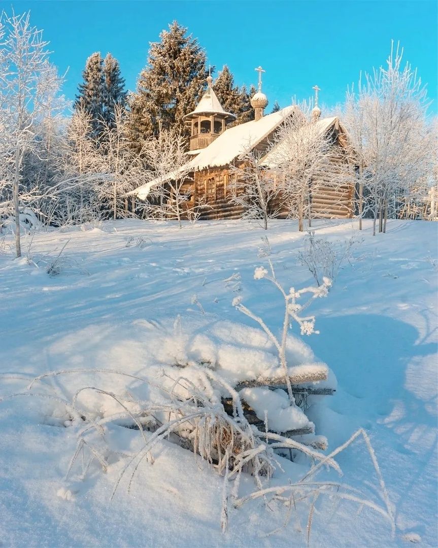
<path id="1" fill-rule="evenodd" d="M 109 127 L 115 127 L 115 110 L 126 106 L 127 92 L 124 89 L 124 78 L 120 73 L 120 65 L 111 53 L 107 53 L 103 64 L 104 91 L 103 117 Z"/>

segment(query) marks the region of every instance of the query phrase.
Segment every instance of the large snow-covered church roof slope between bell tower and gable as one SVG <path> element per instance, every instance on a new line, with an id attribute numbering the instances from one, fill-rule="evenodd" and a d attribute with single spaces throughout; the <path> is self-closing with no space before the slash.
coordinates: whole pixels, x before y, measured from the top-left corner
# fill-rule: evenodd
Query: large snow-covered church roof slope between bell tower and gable
<path id="1" fill-rule="evenodd" d="M 212 167 L 221 167 L 231 163 L 237 156 L 252 150 L 268 137 L 285 118 L 294 112 L 296 107 L 273 112 L 259 120 L 236 125 L 219 135 L 211 145 L 203 149 L 196 158 L 190 161 L 189 167 L 198 171 Z"/>

